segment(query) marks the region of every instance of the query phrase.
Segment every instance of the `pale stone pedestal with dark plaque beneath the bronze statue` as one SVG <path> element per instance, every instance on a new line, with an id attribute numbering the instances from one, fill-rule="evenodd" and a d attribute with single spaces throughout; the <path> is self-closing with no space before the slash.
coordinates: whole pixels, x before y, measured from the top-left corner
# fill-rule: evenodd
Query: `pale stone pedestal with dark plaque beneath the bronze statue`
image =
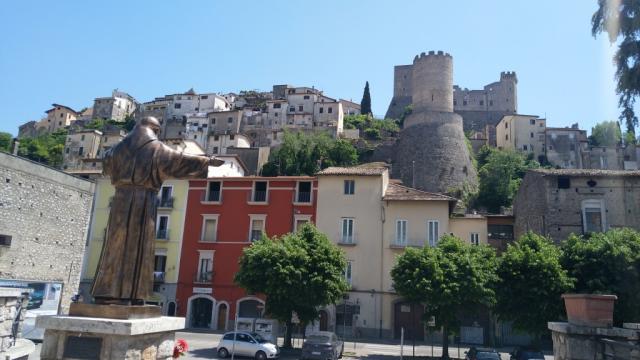
<path id="1" fill-rule="evenodd" d="M 184 318 L 105 319 L 74 316 L 38 317 L 44 328 L 42 360 L 171 359 L 175 332 Z"/>

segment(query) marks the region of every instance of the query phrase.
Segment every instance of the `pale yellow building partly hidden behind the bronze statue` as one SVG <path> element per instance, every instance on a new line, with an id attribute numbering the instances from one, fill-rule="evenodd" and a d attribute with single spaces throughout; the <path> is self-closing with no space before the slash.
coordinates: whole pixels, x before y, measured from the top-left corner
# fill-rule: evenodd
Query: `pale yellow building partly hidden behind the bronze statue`
<path id="1" fill-rule="evenodd" d="M 147 301 L 162 306 L 163 313 L 167 315 L 175 314 L 176 309 L 176 287 L 188 187 L 188 180 L 169 180 L 164 182 L 158 193 L 154 295 Z M 91 284 L 106 236 L 110 202 L 114 193 L 115 188 L 109 178 L 102 177 L 96 180 L 89 241 L 80 284 L 80 293 L 85 301 L 91 300 Z"/>

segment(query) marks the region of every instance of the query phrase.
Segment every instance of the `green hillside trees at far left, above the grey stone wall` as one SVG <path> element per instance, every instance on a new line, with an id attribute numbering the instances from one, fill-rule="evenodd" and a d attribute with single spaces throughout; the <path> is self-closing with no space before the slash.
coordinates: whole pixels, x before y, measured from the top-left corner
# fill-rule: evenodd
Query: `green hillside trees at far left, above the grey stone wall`
<path id="1" fill-rule="evenodd" d="M 62 166 L 62 152 L 67 138 L 66 130 L 24 138 L 20 141 L 18 155 L 53 167 Z"/>

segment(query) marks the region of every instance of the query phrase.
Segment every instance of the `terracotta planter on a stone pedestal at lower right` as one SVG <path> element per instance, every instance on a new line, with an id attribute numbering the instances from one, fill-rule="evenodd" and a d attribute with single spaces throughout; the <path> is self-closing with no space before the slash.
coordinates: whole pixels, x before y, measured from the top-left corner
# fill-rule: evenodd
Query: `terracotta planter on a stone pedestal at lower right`
<path id="1" fill-rule="evenodd" d="M 613 303 L 615 295 L 564 294 L 569 323 L 578 326 L 613 326 Z"/>

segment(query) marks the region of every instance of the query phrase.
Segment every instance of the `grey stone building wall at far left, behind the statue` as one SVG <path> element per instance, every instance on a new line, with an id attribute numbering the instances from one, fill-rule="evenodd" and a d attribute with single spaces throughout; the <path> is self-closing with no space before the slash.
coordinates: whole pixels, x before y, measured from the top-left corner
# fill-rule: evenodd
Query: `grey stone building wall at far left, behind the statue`
<path id="1" fill-rule="evenodd" d="M 66 313 L 78 290 L 94 184 L 0 152 L 0 279 L 63 284 Z"/>

